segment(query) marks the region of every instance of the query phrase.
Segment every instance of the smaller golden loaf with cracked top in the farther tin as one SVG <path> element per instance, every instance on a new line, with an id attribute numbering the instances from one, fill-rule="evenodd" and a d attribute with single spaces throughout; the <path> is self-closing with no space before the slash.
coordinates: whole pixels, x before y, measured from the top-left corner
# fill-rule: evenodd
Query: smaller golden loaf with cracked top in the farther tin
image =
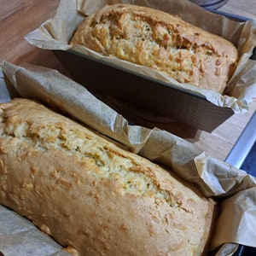
<path id="1" fill-rule="evenodd" d="M 107 5 L 86 17 L 70 44 L 219 93 L 237 61 L 236 47 L 224 38 L 160 10 L 128 4 Z"/>

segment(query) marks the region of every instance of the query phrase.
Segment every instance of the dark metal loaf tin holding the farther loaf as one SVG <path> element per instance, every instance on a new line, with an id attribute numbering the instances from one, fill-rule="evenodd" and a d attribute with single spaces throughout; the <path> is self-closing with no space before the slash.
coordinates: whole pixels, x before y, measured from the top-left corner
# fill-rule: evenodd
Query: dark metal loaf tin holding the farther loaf
<path id="1" fill-rule="evenodd" d="M 211 11 L 236 21 L 247 20 L 244 17 Z M 152 113 L 152 116 L 167 117 L 209 132 L 234 114 L 231 108 L 218 107 L 208 102 L 205 96 L 132 72 L 108 61 L 98 60 L 72 49 L 53 52 L 73 80 L 84 85 L 112 108 L 115 106 L 111 105 L 111 101 L 106 101 L 106 96 L 122 102 L 121 106 L 124 106 L 125 111 L 125 106 L 133 106 Z M 122 113 L 122 107 L 116 110 Z"/>

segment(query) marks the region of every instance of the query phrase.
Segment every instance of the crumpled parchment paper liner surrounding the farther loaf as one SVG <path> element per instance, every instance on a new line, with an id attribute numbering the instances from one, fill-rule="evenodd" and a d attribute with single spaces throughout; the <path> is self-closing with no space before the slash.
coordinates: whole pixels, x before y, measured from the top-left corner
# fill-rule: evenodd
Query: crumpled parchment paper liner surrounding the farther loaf
<path id="1" fill-rule="evenodd" d="M 111 3 L 132 3 L 162 9 L 173 15 L 179 15 L 183 20 L 189 21 L 195 26 L 201 26 L 209 32 L 230 40 L 237 46 L 240 60 L 236 72 L 230 79 L 226 94 L 222 96 L 212 90 L 203 90 L 189 84 L 177 83 L 174 79 L 170 79 L 164 73 L 157 72 L 152 68 L 102 56 L 80 45 L 71 47 L 68 42 L 79 23 L 84 20 L 84 16 L 90 15 L 105 4 Z M 137 73 L 143 73 L 154 79 L 181 86 L 206 96 L 209 102 L 219 107 L 231 108 L 234 113 L 247 112 L 249 104 L 256 97 L 256 61 L 249 60 L 253 49 L 256 47 L 256 20 L 243 23 L 228 20 L 222 15 L 212 14 L 201 9 L 187 0 L 62 0 L 55 17 L 45 21 L 35 31 L 28 33 L 26 40 L 42 49 L 74 49 L 85 55 L 92 55 L 97 59 L 112 62 Z"/>

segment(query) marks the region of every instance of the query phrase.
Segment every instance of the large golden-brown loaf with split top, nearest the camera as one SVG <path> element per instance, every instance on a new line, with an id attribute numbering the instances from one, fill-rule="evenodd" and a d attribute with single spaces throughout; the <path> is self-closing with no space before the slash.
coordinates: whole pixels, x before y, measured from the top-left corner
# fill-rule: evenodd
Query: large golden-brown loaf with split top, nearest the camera
<path id="1" fill-rule="evenodd" d="M 0 105 L 0 203 L 81 255 L 201 255 L 216 204 L 43 105 Z"/>

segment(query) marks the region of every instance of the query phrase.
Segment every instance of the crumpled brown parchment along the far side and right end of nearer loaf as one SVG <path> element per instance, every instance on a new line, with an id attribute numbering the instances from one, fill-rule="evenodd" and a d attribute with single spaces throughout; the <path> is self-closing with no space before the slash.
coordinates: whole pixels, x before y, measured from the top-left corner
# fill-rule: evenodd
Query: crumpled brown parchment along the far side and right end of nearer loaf
<path id="1" fill-rule="evenodd" d="M 227 252 L 231 255 L 238 243 L 255 247 L 255 177 L 207 157 L 201 148 L 171 133 L 128 125 L 126 119 L 82 85 L 55 70 L 28 64 L 18 67 L 5 61 L 3 73 L 12 96 L 38 99 L 50 108 L 71 115 L 131 152 L 196 183 L 204 195 L 217 200 L 219 217 L 211 248 L 221 249 L 215 255 L 226 256 Z"/>

